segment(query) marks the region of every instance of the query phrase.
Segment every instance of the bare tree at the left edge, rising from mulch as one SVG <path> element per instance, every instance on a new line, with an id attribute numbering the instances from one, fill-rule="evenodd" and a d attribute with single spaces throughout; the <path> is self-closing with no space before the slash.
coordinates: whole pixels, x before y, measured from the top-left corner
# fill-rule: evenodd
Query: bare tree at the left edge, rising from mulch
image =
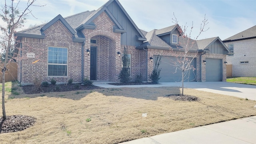
<path id="1" fill-rule="evenodd" d="M 34 2 L 36 0 L 28 0 L 27 6 L 24 10 L 20 10 L 18 8 L 18 5 L 20 4 L 20 0 L 15 3 L 14 0 L 11 0 L 12 2 L 10 5 L 7 4 L 6 0 L 4 3 L 4 6 L 2 6 L 0 11 L 0 17 L 4 22 L 5 26 L 0 26 L 0 30 L 2 31 L 3 35 L 0 38 L 2 50 L 4 51 L 5 57 L 4 57 L 4 67 L 2 68 L 2 112 L 3 112 L 3 120 L 6 119 L 6 112 L 5 112 L 5 105 L 4 105 L 4 84 L 5 84 L 5 71 L 8 70 L 6 68 L 6 64 L 13 60 L 13 57 L 10 57 L 8 54 L 12 52 L 12 50 L 15 48 L 15 41 L 16 37 L 14 37 L 14 32 L 18 28 L 21 28 L 26 20 L 26 17 L 30 14 L 33 16 L 31 10 L 29 9 L 31 6 L 37 6 L 34 5 Z M 34 16 L 33 16 L 34 17 Z"/>

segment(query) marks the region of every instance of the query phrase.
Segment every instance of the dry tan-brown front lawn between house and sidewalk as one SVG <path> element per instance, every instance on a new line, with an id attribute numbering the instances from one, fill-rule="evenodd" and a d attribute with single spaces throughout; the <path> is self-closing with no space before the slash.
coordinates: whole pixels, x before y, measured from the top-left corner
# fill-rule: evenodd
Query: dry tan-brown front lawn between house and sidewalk
<path id="1" fill-rule="evenodd" d="M 0 143 L 113 144 L 256 115 L 256 101 L 193 89 L 185 89 L 184 94 L 197 96 L 199 102 L 166 97 L 178 93 L 178 87 L 33 95 L 7 92 L 7 115 L 28 115 L 37 120 L 26 130 L 0 134 Z"/>

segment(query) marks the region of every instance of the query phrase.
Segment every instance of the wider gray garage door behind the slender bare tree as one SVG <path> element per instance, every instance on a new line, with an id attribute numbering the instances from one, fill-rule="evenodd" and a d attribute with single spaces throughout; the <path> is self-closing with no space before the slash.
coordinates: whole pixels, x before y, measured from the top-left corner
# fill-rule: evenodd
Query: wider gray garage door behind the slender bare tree
<path id="1" fill-rule="evenodd" d="M 154 56 L 154 60 L 156 60 L 156 56 Z M 160 80 L 159 82 L 181 82 L 182 80 L 182 72 L 177 69 L 177 72 L 175 73 L 175 66 L 170 65 L 170 61 L 176 60 L 176 58 L 171 56 L 162 56 L 162 62 L 159 66 L 159 68 L 162 68 L 160 72 Z M 191 65 L 196 66 L 196 59 L 194 59 L 191 63 Z M 189 77 L 189 79 L 187 79 Z M 185 77 L 186 81 L 196 81 L 196 70 L 190 70 Z"/>

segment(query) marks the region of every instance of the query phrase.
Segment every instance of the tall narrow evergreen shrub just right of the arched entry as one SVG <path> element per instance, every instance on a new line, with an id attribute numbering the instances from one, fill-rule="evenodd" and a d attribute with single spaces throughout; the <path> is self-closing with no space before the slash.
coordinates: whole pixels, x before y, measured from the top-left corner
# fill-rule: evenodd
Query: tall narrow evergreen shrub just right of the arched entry
<path id="1" fill-rule="evenodd" d="M 120 79 L 121 83 L 128 83 L 130 81 L 130 74 L 128 72 L 129 68 L 127 66 L 127 61 L 128 61 L 128 54 L 127 50 L 124 47 L 124 54 L 122 56 L 122 70 L 120 71 L 118 75 L 118 79 Z"/>

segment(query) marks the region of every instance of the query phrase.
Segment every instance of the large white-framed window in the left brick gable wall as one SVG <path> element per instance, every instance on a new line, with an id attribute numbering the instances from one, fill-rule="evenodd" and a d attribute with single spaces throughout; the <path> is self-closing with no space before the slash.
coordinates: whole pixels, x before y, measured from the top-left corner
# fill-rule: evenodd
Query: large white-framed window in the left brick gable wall
<path id="1" fill-rule="evenodd" d="M 48 47 L 48 76 L 67 76 L 68 48 Z"/>

